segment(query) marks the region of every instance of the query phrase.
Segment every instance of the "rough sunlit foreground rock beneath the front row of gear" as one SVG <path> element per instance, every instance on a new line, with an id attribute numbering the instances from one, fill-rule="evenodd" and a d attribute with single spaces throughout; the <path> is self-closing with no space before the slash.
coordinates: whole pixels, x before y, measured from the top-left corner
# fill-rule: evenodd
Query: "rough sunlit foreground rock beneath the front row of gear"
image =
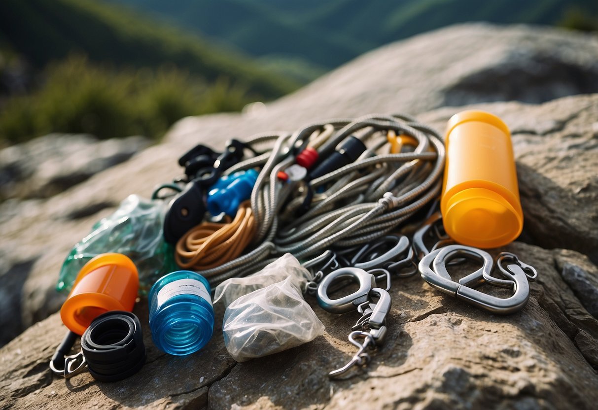
<path id="1" fill-rule="evenodd" d="M 395 280 L 386 344 L 372 353 L 367 374 L 349 380 L 330 381 L 326 372 L 353 353 L 346 336 L 356 313 L 329 314 L 310 299 L 327 327 L 324 336 L 235 363 L 224 350 L 219 328 L 208 346 L 191 356 L 160 353 L 148 332 L 147 304 L 141 302 L 135 312 L 144 326 L 148 360 L 139 374 L 111 384 L 97 383 L 89 374 L 68 381 L 53 377 L 47 360 L 65 331 L 54 314 L 0 350 L 5 392 L 0 406 L 594 408 L 598 375 L 591 365 L 597 366 L 598 321 L 563 281 L 557 260 L 565 251 L 523 243 L 507 250 L 539 272 L 523 311 L 491 315 L 432 289 L 417 276 Z M 454 267 L 451 274 L 458 278 L 467 269 Z M 221 319 L 218 308 L 216 321 Z"/>

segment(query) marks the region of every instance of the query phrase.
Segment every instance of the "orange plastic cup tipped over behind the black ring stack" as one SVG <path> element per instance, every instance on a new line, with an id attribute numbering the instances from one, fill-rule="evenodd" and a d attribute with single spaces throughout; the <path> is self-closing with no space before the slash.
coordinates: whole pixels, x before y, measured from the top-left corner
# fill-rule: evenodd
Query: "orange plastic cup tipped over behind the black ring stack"
<path id="1" fill-rule="evenodd" d="M 102 253 L 79 271 L 60 317 L 67 328 L 83 335 L 102 313 L 132 311 L 138 290 L 139 276 L 133 261 L 121 253 Z"/>

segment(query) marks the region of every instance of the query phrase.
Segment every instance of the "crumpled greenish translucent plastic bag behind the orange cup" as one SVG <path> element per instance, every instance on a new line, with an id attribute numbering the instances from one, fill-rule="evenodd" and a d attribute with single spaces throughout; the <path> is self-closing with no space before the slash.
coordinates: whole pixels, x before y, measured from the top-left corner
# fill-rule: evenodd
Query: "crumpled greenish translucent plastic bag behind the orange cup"
<path id="1" fill-rule="evenodd" d="M 108 218 L 97 222 L 89 235 L 77 243 L 60 269 L 56 290 L 69 292 L 77 274 L 100 253 L 129 256 L 139 272 L 139 293 L 164 274 L 178 270 L 172 246 L 164 241 L 164 202 L 129 195 Z"/>

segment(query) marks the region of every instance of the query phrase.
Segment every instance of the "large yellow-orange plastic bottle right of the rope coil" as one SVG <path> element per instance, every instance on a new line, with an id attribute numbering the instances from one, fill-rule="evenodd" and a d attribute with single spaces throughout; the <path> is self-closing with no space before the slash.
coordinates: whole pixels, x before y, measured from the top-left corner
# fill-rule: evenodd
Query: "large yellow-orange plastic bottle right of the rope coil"
<path id="1" fill-rule="evenodd" d="M 511 132 L 496 115 L 462 111 L 449 120 L 440 210 L 459 243 L 499 247 L 519 236 L 519 200 Z"/>

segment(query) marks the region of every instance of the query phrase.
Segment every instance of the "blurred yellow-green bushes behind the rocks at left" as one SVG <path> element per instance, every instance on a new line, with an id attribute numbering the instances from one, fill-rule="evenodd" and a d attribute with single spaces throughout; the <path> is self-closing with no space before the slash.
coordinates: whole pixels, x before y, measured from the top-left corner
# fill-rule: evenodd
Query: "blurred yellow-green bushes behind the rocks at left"
<path id="1" fill-rule="evenodd" d="M 224 77 L 207 84 L 175 68 L 115 71 L 73 56 L 48 66 L 45 75 L 39 90 L 8 100 L 0 143 L 53 131 L 158 138 L 179 118 L 237 111 L 251 102 L 245 88 Z"/>

